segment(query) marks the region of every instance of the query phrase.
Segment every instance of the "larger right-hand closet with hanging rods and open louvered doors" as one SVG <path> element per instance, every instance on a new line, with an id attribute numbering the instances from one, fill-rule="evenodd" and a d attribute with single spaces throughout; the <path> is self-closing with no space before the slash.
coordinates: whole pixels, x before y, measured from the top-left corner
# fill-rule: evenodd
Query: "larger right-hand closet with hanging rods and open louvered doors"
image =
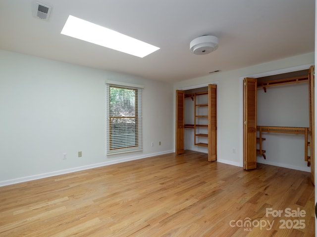
<path id="1" fill-rule="evenodd" d="M 314 67 L 244 79 L 243 159 L 311 172 L 314 182 Z"/>

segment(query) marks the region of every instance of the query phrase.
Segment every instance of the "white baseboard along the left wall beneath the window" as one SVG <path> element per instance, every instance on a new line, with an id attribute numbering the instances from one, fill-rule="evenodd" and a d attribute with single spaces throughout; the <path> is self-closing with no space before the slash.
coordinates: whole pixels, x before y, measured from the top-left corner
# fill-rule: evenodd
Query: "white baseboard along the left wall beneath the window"
<path id="1" fill-rule="evenodd" d="M 155 156 L 164 155 L 164 154 L 168 154 L 168 153 L 174 153 L 174 151 L 164 151 L 164 152 L 135 156 L 135 157 L 130 157 L 130 158 L 108 160 L 108 161 L 102 162 L 102 163 L 79 166 L 79 167 L 74 167 L 74 168 L 70 168 L 70 169 L 57 170 L 57 171 L 53 171 L 53 172 L 36 174 L 36 175 L 31 175 L 31 176 L 26 176 L 26 177 L 21 177 L 21 178 L 16 178 L 16 179 L 4 180 L 4 181 L 0 181 L 0 187 L 11 185 L 11 184 L 23 183 L 23 182 L 27 182 L 27 181 L 36 180 L 36 179 L 43 179 L 43 178 L 52 177 L 52 176 L 56 176 L 56 175 L 60 175 L 60 174 L 68 174 L 68 173 L 73 173 L 76 171 L 97 168 L 97 167 L 106 166 L 106 165 L 110 165 L 110 164 L 122 163 L 122 162 L 136 160 L 136 159 L 155 157 Z"/>

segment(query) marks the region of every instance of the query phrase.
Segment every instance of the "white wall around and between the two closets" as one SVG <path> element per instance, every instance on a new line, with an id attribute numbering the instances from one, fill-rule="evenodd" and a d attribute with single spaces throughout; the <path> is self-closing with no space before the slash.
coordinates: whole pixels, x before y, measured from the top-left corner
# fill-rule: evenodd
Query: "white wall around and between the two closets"
<path id="1" fill-rule="evenodd" d="M 218 82 L 217 160 L 218 162 L 241 166 L 243 160 L 243 87 L 241 78 L 306 64 L 314 64 L 314 52 L 229 72 L 220 72 L 205 77 L 180 81 L 174 83 L 174 93 L 176 89 L 215 81 Z M 235 153 L 233 153 L 234 150 Z"/>

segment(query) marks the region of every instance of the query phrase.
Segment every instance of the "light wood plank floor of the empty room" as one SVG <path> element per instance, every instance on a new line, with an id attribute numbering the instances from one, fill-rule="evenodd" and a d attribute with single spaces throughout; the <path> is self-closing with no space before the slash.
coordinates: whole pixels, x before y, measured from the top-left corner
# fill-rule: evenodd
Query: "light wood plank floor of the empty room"
<path id="1" fill-rule="evenodd" d="M 0 187 L 0 236 L 311 237 L 314 210 L 307 172 L 186 151 Z"/>

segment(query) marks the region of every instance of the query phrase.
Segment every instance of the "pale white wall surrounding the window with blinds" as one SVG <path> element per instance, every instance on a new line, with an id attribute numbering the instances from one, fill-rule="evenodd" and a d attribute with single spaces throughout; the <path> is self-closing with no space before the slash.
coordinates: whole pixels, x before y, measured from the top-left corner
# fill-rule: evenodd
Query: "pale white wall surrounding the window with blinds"
<path id="1" fill-rule="evenodd" d="M 107 79 L 145 86 L 143 152 L 106 156 Z M 0 50 L 0 186 L 172 152 L 172 95 L 169 83 Z"/>

